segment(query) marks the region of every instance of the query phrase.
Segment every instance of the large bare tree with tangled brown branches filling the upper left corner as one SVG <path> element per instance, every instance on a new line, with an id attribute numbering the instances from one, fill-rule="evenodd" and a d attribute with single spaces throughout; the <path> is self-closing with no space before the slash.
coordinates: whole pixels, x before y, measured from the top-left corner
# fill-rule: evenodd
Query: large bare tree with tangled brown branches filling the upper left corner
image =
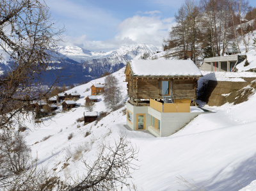
<path id="1" fill-rule="evenodd" d="M 55 47 L 63 29 L 54 26 L 44 1 L 3 0 L 0 15 L 0 50 L 10 68 L 0 76 L 0 128 L 11 129 L 28 116 L 24 106 L 44 96 L 40 83 L 60 59 Z"/>

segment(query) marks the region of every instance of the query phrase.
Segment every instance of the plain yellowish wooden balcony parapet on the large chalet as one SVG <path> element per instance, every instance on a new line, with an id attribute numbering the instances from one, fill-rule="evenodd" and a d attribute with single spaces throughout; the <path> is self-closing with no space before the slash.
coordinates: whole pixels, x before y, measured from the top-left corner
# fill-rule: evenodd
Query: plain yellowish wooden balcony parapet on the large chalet
<path id="1" fill-rule="evenodd" d="M 150 99 L 150 107 L 159 112 L 190 112 L 189 103 L 161 103 Z"/>

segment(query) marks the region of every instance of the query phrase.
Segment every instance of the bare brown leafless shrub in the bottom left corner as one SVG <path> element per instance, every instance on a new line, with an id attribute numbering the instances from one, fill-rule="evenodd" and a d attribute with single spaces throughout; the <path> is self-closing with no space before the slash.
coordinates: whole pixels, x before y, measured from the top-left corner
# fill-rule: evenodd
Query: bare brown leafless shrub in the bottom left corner
<path id="1" fill-rule="evenodd" d="M 52 190 L 63 188 L 60 178 L 36 169 L 31 149 L 20 132 L 1 134 L 0 190 Z M 58 190 L 58 189 L 56 189 Z"/>

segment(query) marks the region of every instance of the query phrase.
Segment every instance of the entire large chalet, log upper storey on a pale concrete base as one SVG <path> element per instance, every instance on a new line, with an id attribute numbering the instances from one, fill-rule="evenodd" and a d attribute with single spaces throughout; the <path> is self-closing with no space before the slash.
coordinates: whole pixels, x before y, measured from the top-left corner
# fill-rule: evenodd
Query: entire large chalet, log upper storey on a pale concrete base
<path id="1" fill-rule="evenodd" d="M 125 68 L 127 126 L 156 137 L 172 135 L 200 112 L 195 104 L 202 73 L 191 60 L 132 60 Z M 194 107 L 195 108 L 195 107 Z"/>

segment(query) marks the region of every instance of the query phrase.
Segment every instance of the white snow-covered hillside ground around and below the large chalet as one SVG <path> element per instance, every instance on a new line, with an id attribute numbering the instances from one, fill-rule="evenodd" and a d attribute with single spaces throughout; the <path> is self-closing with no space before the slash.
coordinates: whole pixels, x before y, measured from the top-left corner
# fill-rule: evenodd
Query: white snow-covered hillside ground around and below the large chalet
<path id="1" fill-rule="evenodd" d="M 120 80 L 122 96 L 127 99 L 124 68 L 114 73 Z M 218 73 L 218 75 L 229 75 Z M 242 75 L 243 76 L 243 75 Z M 227 77 L 227 76 L 226 76 Z M 241 78 L 241 75 L 234 76 Z M 86 173 L 81 159 L 93 161 L 97 157 L 100 142 L 113 145 L 119 132 L 125 132 L 132 144 L 139 148 L 137 165 L 140 169 L 132 174 L 138 190 L 189 190 L 186 181 L 206 190 L 239 190 L 239 185 L 249 185 L 256 180 L 256 95 L 247 102 L 221 107 L 203 108 L 216 111 L 201 114 L 185 128 L 169 137 L 156 138 L 145 132 L 125 128 L 125 107 L 111 112 L 100 121 L 83 125 L 76 119 L 86 112 L 84 98 L 92 84 L 104 83 L 104 78 L 92 80 L 67 92 L 77 91 L 81 106 L 68 112 L 60 112 L 53 118 L 45 118 L 44 125 L 34 128 L 28 124 L 27 142 L 32 155 L 38 156 L 38 165 L 62 178 Z M 108 111 L 102 96 L 93 111 Z M 77 125 L 81 125 L 77 128 Z M 86 132 L 90 135 L 86 136 Z M 68 136 L 73 134 L 72 139 Z M 45 137 L 49 137 L 46 139 Z M 44 139 L 46 139 L 44 141 Z M 255 188 L 255 181 L 248 186 Z M 192 187 L 192 186 L 190 186 Z M 244 191 L 244 190 L 243 190 Z"/>

